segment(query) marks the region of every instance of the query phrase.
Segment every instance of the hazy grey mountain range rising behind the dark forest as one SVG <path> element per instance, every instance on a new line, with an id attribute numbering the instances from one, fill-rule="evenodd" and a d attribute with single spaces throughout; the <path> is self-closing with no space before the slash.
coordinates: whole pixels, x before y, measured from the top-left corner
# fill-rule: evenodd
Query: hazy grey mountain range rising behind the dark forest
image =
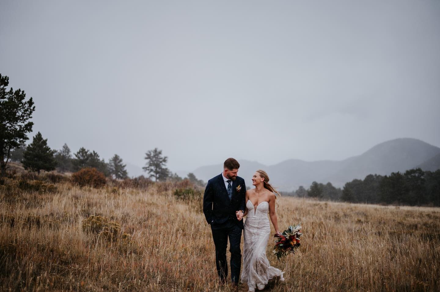
<path id="1" fill-rule="evenodd" d="M 386 141 L 370 148 L 361 155 L 341 161 L 321 160 L 307 162 L 288 159 L 266 166 L 256 161 L 239 160 L 238 175 L 250 185 L 250 178 L 257 169 L 264 169 L 271 183 L 281 191 L 293 191 L 300 185 L 308 188 L 313 181 L 323 184 L 331 182 L 342 187 L 353 179 L 364 179 L 368 174 L 387 175 L 404 172 L 440 155 L 440 148 L 412 138 Z M 440 159 L 440 158 L 438 158 Z M 202 166 L 194 170 L 198 179 L 209 180 L 222 171 L 223 165 Z"/>

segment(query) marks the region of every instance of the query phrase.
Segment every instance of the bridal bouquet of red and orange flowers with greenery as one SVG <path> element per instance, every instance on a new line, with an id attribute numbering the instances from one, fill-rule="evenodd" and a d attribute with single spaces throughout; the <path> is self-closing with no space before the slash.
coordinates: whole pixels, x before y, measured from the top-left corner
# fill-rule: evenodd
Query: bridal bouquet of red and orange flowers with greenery
<path id="1" fill-rule="evenodd" d="M 300 246 L 301 223 L 297 226 L 289 226 L 281 235 L 275 234 L 275 246 L 273 253 L 279 259 L 290 253 L 295 253 L 295 249 Z"/>

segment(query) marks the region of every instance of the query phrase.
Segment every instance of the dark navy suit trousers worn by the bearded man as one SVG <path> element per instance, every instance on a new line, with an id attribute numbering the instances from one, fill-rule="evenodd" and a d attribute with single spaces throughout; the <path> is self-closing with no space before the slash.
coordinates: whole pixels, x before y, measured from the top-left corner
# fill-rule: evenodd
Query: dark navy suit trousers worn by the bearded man
<path id="1" fill-rule="evenodd" d="M 229 223 L 229 222 L 228 222 Z M 225 281 L 227 278 L 227 261 L 226 248 L 227 238 L 229 238 L 229 245 L 231 252 L 231 281 L 238 284 L 240 278 L 240 267 L 242 264 L 242 253 L 240 249 L 240 242 L 242 239 L 242 228 L 237 224 L 225 224 L 223 228 L 213 229 L 213 240 L 216 247 L 216 267 L 220 281 Z"/>

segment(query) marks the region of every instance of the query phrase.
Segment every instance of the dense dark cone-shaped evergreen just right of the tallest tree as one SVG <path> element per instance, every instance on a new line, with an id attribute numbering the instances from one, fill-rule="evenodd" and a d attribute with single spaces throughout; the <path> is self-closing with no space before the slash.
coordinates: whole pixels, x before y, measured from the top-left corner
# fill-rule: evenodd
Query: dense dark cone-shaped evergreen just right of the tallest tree
<path id="1" fill-rule="evenodd" d="M 23 166 L 25 169 L 37 171 L 38 174 L 40 170 L 54 170 L 56 166 L 54 152 L 48 146 L 48 139 L 43 139 L 41 133 L 38 132 L 23 153 Z"/>

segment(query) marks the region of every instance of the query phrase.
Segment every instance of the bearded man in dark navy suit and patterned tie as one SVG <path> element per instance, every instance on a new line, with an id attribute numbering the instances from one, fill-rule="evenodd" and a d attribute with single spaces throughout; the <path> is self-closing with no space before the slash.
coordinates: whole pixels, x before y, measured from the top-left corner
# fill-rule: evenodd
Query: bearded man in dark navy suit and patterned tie
<path id="1" fill-rule="evenodd" d="M 229 238 L 231 280 L 235 286 L 238 285 L 242 263 L 240 241 L 246 195 L 245 181 L 237 176 L 239 167 L 237 160 L 226 159 L 223 172 L 208 181 L 203 195 L 203 213 L 213 232 L 220 284 L 224 284 L 227 278 L 226 246 Z"/>

